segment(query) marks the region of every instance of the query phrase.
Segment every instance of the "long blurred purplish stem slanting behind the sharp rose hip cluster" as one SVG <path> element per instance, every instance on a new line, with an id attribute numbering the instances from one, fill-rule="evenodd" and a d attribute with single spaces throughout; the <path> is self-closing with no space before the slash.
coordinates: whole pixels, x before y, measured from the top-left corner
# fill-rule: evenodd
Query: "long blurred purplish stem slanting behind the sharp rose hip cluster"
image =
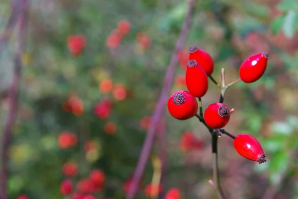
<path id="1" fill-rule="evenodd" d="M 169 66 L 167 68 L 165 77 L 164 77 L 164 84 L 161 90 L 161 94 L 159 96 L 156 108 L 154 110 L 152 120 L 149 126 L 149 129 L 147 131 L 147 135 L 145 138 L 145 142 L 143 144 L 143 148 L 139 157 L 139 161 L 136 167 L 136 170 L 133 175 L 132 179 L 132 186 L 130 191 L 127 194 L 127 199 L 134 199 L 136 193 L 137 193 L 137 187 L 139 185 L 139 182 L 141 180 L 141 177 L 143 175 L 145 166 L 148 161 L 149 153 L 152 148 L 153 140 L 154 140 L 154 135 L 156 132 L 157 125 L 160 121 L 160 119 L 164 115 L 164 108 L 166 105 L 168 93 L 170 91 L 171 83 L 173 80 L 174 76 L 174 71 L 178 62 L 178 57 L 177 54 L 178 52 L 183 48 L 186 37 L 188 35 L 188 31 L 190 28 L 190 20 L 191 20 L 191 13 L 194 7 L 195 0 L 189 0 L 189 6 L 187 10 L 187 14 L 183 23 L 183 27 L 179 36 L 179 39 L 176 43 L 175 50 L 172 54 Z"/>

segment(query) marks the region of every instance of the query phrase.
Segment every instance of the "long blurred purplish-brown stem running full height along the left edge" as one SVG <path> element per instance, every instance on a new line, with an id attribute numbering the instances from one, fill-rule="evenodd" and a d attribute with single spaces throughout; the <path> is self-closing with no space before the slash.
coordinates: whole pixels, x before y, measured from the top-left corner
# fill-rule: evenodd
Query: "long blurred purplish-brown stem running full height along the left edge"
<path id="1" fill-rule="evenodd" d="M 16 0 L 19 8 L 22 8 L 19 15 L 19 26 L 17 34 L 17 50 L 14 56 L 13 79 L 9 88 L 8 100 L 9 107 L 4 127 L 4 133 L 1 140 L 1 183 L 0 183 L 0 199 L 7 199 L 7 174 L 8 174 L 8 147 L 10 145 L 11 133 L 17 115 L 18 107 L 18 83 L 21 76 L 21 56 L 26 41 L 26 22 L 27 22 L 27 6 L 28 0 Z"/>

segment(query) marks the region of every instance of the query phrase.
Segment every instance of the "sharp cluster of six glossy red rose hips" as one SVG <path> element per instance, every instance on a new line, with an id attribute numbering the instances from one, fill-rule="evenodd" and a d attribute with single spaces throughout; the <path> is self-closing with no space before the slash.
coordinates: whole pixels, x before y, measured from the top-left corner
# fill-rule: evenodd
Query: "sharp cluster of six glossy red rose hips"
<path id="1" fill-rule="evenodd" d="M 261 78 L 267 67 L 268 53 L 262 52 L 247 58 L 239 68 L 239 79 L 245 83 L 255 82 Z M 187 120 L 194 116 L 208 127 L 209 130 L 225 133 L 234 139 L 236 151 L 243 157 L 257 161 L 259 164 L 266 162 L 266 156 L 259 141 L 250 134 L 242 133 L 236 137 L 224 129 L 229 122 L 231 110 L 221 102 L 210 104 L 204 114 L 201 98 L 208 91 L 208 77 L 217 83 L 211 76 L 214 71 L 214 62 L 209 53 L 197 46 L 189 49 L 185 81 L 188 91 L 174 92 L 168 99 L 167 108 L 172 117 L 178 120 Z M 236 82 L 236 81 L 235 81 Z M 227 89 L 224 85 L 219 85 Z M 196 100 L 199 99 L 199 105 Z M 197 113 L 200 107 L 200 115 Z"/>

